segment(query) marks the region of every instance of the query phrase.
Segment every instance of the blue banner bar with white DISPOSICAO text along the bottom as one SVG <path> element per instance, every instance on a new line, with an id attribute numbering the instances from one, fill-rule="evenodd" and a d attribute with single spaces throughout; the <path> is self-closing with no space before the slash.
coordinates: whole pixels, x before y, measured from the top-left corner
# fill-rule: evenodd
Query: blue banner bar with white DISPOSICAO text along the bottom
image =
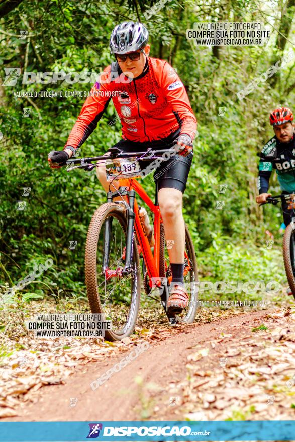
<path id="1" fill-rule="evenodd" d="M 294 420 L 0 422 L 0 442 L 295 440 Z"/>

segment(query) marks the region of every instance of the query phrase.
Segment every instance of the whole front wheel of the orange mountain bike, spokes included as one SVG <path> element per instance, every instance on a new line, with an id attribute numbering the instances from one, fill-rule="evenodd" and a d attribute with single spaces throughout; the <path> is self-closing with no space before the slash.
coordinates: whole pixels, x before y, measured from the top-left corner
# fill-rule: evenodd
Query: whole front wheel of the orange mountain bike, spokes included
<path id="1" fill-rule="evenodd" d="M 130 336 L 140 302 L 140 266 L 133 238 L 132 268 L 122 276 L 125 265 L 127 220 L 118 204 L 106 203 L 91 219 L 85 249 L 85 282 L 92 313 L 112 321 L 105 339 L 119 341 Z"/>

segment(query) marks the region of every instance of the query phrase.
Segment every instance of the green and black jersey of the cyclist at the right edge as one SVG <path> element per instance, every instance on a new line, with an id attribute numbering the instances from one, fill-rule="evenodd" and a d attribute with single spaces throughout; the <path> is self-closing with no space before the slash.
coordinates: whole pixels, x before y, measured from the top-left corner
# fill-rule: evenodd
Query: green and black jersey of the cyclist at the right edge
<path id="1" fill-rule="evenodd" d="M 295 192 L 295 137 L 289 143 L 271 138 L 260 154 L 257 187 L 259 194 L 267 193 L 269 178 L 275 169 L 282 190 Z"/>

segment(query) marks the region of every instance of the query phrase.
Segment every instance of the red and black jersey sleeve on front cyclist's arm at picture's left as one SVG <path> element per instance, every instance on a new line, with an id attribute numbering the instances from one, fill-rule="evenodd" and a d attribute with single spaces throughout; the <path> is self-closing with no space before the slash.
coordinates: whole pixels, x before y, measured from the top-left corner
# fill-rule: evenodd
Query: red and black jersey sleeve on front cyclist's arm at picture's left
<path id="1" fill-rule="evenodd" d="M 79 148 L 96 128 L 102 118 L 112 96 L 113 85 L 110 80 L 110 66 L 108 66 L 99 80 L 92 87 L 89 96 L 83 104 L 81 112 L 74 124 L 68 140 L 64 146 Z"/>

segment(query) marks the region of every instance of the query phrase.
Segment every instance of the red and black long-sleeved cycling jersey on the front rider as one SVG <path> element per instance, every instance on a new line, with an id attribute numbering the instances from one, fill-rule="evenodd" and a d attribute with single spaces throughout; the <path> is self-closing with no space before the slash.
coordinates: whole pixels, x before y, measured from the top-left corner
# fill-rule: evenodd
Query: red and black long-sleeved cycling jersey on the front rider
<path id="1" fill-rule="evenodd" d="M 180 134 L 194 138 L 196 119 L 187 93 L 166 61 L 147 57 L 142 74 L 132 81 L 122 73 L 117 62 L 112 63 L 100 80 L 83 104 L 65 147 L 77 149 L 84 143 L 111 99 L 121 120 L 125 140 L 152 142 L 167 138 L 179 128 Z"/>

